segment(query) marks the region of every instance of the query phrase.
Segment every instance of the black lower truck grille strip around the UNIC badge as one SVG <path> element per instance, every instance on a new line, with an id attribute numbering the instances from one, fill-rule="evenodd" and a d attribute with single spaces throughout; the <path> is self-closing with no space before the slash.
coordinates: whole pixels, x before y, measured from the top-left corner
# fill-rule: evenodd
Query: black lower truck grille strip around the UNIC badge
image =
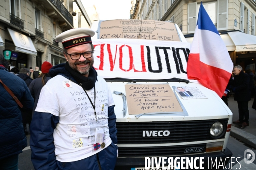
<path id="1" fill-rule="evenodd" d="M 186 148 L 203 147 L 200 152 L 191 153 L 204 153 L 206 144 L 191 144 L 179 146 L 161 146 L 161 147 L 119 147 L 119 157 L 145 157 L 145 156 L 174 156 L 184 155 L 191 153 L 184 153 Z"/>

